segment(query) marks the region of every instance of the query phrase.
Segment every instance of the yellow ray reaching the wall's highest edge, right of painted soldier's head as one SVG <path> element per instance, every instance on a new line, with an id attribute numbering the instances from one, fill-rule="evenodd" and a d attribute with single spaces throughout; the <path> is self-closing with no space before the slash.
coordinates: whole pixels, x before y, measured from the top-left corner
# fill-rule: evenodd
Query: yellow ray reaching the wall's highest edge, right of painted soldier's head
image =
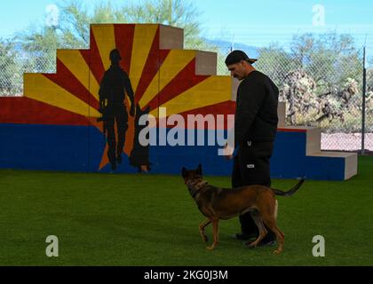
<path id="1" fill-rule="evenodd" d="M 157 28 L 158 25 L 138 24 L 135 26 L 130 68 L 132 89 L 133 91 L 135 91 L 135 95 L 139 85 L 139 79 L 141 77 L 142 70 L 145 67 L 147 56 L 149 55 L 150 48 L 152 47 L 152 43 L 155 38 Z"/>

